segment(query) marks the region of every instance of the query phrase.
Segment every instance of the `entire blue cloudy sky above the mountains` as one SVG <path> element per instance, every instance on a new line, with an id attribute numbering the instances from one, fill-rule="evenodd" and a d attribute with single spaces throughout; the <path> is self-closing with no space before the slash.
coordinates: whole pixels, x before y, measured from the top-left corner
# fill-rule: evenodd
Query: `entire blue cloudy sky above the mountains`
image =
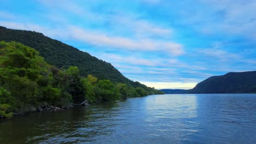
<path id="1" fill-rule="evenodd" d="M 256 70 L 253 0 L 0 0 L 0 26 L 41 32 L 157 89 Z"/>

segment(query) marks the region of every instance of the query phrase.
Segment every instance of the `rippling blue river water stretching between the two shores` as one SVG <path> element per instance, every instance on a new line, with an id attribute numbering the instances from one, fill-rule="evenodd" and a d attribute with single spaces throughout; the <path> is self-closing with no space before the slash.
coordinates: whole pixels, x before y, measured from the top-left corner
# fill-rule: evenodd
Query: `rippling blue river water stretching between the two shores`
<path id="1" fill-rule="evenodd" d="M 256 94 L 166 94 L 0 122 L 0 143 L 256 143 Z"/>

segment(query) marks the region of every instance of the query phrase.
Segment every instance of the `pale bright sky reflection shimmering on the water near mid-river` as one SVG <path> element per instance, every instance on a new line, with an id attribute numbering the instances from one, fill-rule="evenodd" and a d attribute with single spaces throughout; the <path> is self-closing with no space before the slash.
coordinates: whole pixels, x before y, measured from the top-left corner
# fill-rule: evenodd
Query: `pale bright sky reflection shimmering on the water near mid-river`
<path id="1" fill-rule="evenodd" d="M 152 136 L 162 140 L 176 142 L 195 133 L 197 125 L 195 95 L 158 95 L 146 100 L 147 119 Z M 156 137 L 156 139 L 158 138 Z"/>

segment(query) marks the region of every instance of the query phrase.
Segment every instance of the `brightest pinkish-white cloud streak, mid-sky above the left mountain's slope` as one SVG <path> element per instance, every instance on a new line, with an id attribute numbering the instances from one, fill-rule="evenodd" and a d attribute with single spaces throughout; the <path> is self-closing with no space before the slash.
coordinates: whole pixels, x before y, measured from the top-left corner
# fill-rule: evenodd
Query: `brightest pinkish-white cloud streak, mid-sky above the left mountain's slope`
<path id="1" fill-rule="evenodd" d="M 154 39 L 130 39 L 125 37 L 110 37 L 106 33 L 90 31 L 79 27 L 69 27 L 69 33 L 74 39 L 96 46 L 107 46 L 115 49 L 136 51 L 165 51 L 173 56 L 183 54 L 183 46 L 178 43 Z"/>

